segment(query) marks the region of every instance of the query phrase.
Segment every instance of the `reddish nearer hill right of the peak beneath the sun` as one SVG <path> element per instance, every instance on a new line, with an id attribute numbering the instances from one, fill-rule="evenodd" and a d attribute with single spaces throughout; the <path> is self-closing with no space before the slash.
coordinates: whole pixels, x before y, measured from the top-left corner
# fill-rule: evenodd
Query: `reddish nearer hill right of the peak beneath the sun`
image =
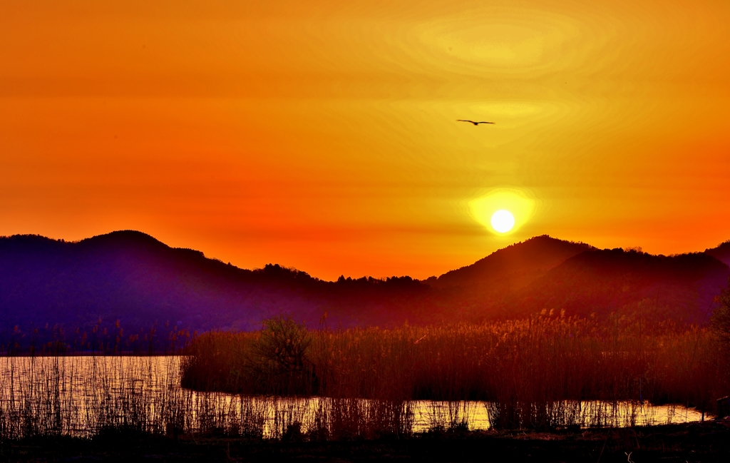
<path id="1" fill-rule="evenodd" d="M 702 322 L 730 269 L 707 253 L 653 256 L 636 250 L 587 250 L 515 291 L 501 309 L 532 313 L 566 310 L 568 315 L 607 315 L 639 302 L 661 318 Z"/>

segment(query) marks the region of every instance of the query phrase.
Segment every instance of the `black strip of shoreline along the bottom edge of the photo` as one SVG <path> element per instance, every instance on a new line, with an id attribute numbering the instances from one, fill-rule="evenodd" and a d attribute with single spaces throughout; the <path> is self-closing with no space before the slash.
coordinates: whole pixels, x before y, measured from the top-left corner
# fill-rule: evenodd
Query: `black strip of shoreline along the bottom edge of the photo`
<path id="1" fill-rule="evenodd" d="M 628 454 L 631 459 L 628 459 Z M 110 432 L 0 442 L 0 462 L 727 462 L 730 421 L 553 432 L 431 432 L 339 442 Z"/>

